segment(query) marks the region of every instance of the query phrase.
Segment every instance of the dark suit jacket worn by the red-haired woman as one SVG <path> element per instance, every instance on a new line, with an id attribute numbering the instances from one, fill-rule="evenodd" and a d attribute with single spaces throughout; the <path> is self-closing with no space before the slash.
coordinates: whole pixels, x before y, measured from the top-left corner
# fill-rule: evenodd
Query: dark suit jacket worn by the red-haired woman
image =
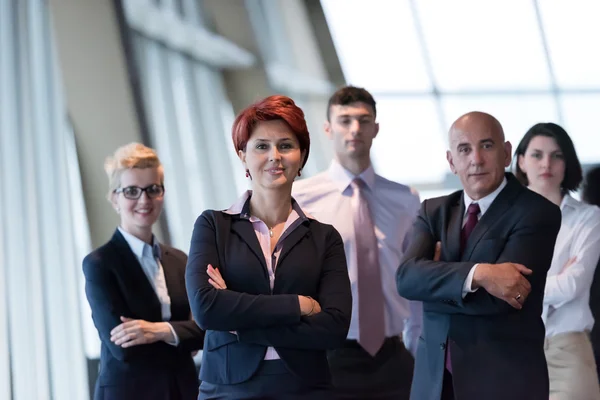
<path id="1" fill-rule="evenodd" d="M 331 225 L 303 218 L 284 239 L 271 291 L 248 219 L 249 201 L 240 214 L 205 211 L 194 227 L 186 284 L 194 319 L 206 329 L 200 379 L 247 381 L 273 346 L 307 385 L 327 384 L 326 350 L 344 342 L 352 311 L 342 239 Z M 208 283 L 208 264 L 219 268 L 226 290 Z M 298 295 L 313 297 L 322 311 L 301 317 Z"/>

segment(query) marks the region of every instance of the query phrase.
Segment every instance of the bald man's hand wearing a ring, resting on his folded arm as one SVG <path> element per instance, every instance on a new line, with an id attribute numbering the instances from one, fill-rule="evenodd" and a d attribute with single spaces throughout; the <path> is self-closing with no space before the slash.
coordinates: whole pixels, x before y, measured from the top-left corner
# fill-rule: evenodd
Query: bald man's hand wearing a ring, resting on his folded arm
<path id="1" fill-rule="evenodd" d="M 520 310 L 531 292 L 531 284 L 524 275 L 532 270 L 515 263 L 479 264 L 473 275 L 472 287 L 484 288 L 489 294 L 506 301 Z"/>

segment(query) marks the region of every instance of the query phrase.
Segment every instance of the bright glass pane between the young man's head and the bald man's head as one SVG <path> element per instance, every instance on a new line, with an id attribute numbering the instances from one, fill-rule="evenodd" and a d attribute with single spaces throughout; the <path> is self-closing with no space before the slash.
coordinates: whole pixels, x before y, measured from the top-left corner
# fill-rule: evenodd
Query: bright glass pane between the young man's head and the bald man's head
<path id="1" fill-rule="evenodd" d="M 377 120 L 372 150 L 377 173 L 404 184 L 443 181 L 449 171 L 446 143 L 432 97 L 379 99 Z"/>

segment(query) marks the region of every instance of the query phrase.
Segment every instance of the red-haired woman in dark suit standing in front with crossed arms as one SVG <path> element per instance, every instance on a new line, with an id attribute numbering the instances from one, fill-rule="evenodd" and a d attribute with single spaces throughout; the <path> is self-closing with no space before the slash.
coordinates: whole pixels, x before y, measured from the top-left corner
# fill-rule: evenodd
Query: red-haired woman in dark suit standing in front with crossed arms
<path id="1" fill-rule="evenodd" d="M 271 96 L 232 136 L 252 190 L 197 219 L 186 271 L 206 329 L 199 399 L 331 398 L 326 350 L 345 340 L 352 300 L 339 233 L 291 195 L 310 146 L 304 113 Z"/>

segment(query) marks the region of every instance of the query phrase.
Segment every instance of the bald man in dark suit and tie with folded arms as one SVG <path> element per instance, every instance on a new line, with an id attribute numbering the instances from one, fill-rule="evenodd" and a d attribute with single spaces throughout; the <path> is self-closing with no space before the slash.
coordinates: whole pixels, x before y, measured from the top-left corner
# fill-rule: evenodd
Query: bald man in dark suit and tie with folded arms
<path id="1" fill-rule="evenodd" d="M 460 117 L 449 144 L 463 190 L 422 203 L 396 277 L 423 302 L 410 398 L 547 400 L 541 313 L 560 209 L 504 172 L 511 145 L 491 115 Z"/>

